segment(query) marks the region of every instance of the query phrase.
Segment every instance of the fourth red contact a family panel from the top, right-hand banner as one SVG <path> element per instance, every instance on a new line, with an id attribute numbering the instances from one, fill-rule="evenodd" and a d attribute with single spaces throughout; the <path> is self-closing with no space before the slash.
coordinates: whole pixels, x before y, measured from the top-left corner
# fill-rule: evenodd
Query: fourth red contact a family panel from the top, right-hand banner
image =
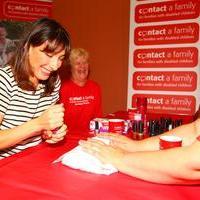
<path id="1" fill-rule="evenodd" d="M 195 72 L 135 72 L 133 89 L 153 91 L 195 91 L 197 74 Z"/>

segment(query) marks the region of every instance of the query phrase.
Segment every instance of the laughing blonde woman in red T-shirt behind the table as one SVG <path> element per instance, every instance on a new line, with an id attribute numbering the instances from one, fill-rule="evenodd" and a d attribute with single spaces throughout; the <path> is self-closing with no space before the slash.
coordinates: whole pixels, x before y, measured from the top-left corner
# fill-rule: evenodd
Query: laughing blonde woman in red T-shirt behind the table
<path id="1" fill-rule="evenodd" d="M 88 135 L 89 122 L 102 116 L 101 90 L 88 79 L 89 54 L 82 48 L 72 49 L 69 55 L 70 80 L 61 85 L 60 102 L 65 108 L 65 123 L 69 133 Z"/>

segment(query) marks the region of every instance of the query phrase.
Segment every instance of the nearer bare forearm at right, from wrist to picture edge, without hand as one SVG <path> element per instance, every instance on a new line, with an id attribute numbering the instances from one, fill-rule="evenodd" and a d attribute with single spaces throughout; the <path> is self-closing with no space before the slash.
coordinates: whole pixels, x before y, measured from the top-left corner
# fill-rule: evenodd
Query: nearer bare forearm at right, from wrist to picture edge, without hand
<path id="1" fill-rule="evenodd" d="M 200 172 L 192 166 L 192 163 L 199 161 L 194 161 L 190 152 L 190 147 L 183 147 L 127 153 L 120 163 L 117 163 L 117 168 L 122 173 L 150 182 L 197 184 L 200 183 Z"/>

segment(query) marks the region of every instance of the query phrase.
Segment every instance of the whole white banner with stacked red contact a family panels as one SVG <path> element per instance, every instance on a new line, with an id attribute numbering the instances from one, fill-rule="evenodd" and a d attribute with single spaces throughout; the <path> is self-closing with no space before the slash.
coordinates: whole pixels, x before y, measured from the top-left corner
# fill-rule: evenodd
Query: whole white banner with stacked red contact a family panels
<path id="1" fill-rule="evenodd" d="M 199 1 L 131 0 L 127 107 L 194 115 L 200 104 Z"/>

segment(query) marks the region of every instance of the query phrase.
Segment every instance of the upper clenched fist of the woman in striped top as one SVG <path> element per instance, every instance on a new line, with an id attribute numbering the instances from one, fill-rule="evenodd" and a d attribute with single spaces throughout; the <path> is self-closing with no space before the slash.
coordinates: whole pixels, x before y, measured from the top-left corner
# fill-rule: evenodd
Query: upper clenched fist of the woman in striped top
<path id="1" fill-rule="evenodd" d="M 64 123 L 64 106 L 63 104 L 55 104 L 45 110 L 37 122 L 41 130 L 53 130 L 61 127 Z"/>

